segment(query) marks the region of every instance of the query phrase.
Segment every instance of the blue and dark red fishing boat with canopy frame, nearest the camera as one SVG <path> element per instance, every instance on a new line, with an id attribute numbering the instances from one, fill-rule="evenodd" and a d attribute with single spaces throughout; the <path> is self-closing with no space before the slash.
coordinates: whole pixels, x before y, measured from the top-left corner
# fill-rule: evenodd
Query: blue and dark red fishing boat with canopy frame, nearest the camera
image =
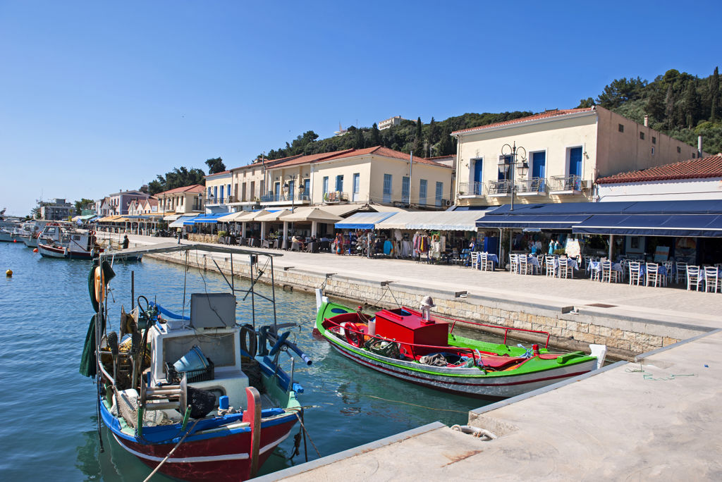
<path id="1" fill-rule="evenodd" d="M 231 260 L 277 255 L 176 243 L 126 254 L 190 250 L 226 253 Z M 190 294 L 188 316 L 140 296 L 129 313 L 121 307 L 118 331 L 110 331 L 103 321 L 117 319 L 104 299 L 114 276 L 110 257 L 101 254 L 89 276 L 96 312 L 81 364 L 81 373 L 97 377 L 99 419 L 123 449 L 165 475 L 189 481 L 255 476 L 303 418 L 296 399 L 303 387 L 293 382 L 293 371 L 280 367 L 279 356 L 294 353 L 306 364 L 310 359 L 287 341 L 289 332 L 279 333 L 282 325 L 254 328 L 258 301 L 249 310 L 253 324 L 238 325 L 235 292 L 254 292 L 253 286 L 236 289 L 232 281 L 230 293 Z"/>

